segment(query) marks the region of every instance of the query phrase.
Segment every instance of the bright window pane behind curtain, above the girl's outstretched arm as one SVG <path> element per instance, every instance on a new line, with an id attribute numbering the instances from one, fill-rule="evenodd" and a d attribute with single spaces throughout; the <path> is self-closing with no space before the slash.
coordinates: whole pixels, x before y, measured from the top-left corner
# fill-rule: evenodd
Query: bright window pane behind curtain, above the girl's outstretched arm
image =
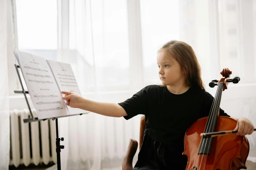
<path id="1" fill-rule="evenodd" d="M 130 83 L 126 0 L 90 2 L 69 4 L 69 45 L 76 51 L 78 83 L 82 91 L 95 85 L 122 89 Z"/>

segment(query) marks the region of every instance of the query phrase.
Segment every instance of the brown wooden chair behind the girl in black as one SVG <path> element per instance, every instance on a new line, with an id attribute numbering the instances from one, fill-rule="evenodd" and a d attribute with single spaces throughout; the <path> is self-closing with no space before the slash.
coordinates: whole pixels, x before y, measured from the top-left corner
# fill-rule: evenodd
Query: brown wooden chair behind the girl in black
<path id="1" fill-rule="evenodd" d="M 145 131 L 145 115 L 142 115 L 141 121 L 140 121 L 140 149 L 143 142 L 143 136 Z M 122 170 L 132 170 L 132 160 L 133 157 L 137 151 L 138 148 L 138 142 L 134 139 L 130 139 L 128 144 L 128 149 L 126 151 L 125 157 L 123 159 L 122 163 Z"/>

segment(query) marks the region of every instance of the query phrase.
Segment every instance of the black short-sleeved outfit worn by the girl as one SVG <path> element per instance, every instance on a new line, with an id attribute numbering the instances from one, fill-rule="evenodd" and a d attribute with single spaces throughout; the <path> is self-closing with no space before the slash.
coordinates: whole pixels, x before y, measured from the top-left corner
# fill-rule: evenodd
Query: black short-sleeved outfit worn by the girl
<path id="1" fill-rule="evenodd" d="M 145 115 L 145 135 L 133 169 L 185 169 L 184 135 L 196 120 L 209 116 L 213 96 L 191 87 L 182 94 L 173 94 L 166 86 L 149 85 L 122 103 L 126 120 Z M 222 109 L 220 116 L 228 116 Z"/>

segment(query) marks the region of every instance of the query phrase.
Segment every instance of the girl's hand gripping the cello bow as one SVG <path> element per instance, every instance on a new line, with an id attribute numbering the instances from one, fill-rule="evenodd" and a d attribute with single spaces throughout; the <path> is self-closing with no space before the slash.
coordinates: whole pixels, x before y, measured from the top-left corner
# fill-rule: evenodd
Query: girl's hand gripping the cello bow
<path id="1" fill-rule="evenodd" d="M 254 126 L 247 118 L 239 118 L 234 131 L 236 130 L 238 130 L 236 135 L 251 135 L 254 130 Z"/>

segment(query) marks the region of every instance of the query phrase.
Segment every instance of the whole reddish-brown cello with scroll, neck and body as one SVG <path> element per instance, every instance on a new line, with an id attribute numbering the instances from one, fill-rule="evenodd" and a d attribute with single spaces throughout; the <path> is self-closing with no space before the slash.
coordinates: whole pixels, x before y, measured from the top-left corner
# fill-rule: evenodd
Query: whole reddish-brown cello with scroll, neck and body
<path id="1" fill-rule="evenodd" d="M 230 82 L 238 83 L 240 78 L 230 79 L 232 72 L 228 68 L 224 68 L 220 74 L 224 78 L 209 83 L 212 88 L 217 86 L 209 116 L 196 120 L 185 133 L 182 154 L 188 157 L 186 170 L 246 169 L 245 162 L 249 153 L 246 136 L 230 132 L 235 129 L 236 120 L 219 116 L 222 91 L 228 89 Z"/>

